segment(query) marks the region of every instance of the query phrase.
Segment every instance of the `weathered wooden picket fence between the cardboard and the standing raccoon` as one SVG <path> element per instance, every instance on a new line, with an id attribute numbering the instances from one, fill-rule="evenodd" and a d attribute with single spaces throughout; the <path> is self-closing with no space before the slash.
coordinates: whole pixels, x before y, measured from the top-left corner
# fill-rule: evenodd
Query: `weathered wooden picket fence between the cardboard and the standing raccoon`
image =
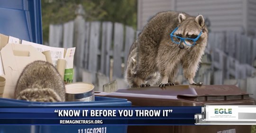
<path id="1" fill-rule="evenodd" d="M 91 72 L 91 82 L 96 83 L 97 73 L 106 75 L 110 80 L 123 78 L 125 62 L 135 36 L 132 27 L 112 22 L 86 22 L 78 15 L 74 21 L 63 25 L 50 25 L 49 45 L 76 47 L 76 80 L 82 81 L 82 71 L 87 70 Z M 110 64 L 111 60 L 113 64 Z M 110 72 L 110 69 L 113 71 Z"/>

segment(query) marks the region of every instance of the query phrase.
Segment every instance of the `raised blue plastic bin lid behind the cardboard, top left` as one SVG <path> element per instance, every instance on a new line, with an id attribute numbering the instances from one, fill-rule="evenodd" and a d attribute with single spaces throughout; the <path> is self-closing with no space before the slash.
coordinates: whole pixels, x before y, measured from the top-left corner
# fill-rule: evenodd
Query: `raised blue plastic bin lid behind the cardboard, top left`
<path id="1" fill-rule="evenodd" d="M 0 0 L 0 33 L 43 43 L 41 0 Z"/>

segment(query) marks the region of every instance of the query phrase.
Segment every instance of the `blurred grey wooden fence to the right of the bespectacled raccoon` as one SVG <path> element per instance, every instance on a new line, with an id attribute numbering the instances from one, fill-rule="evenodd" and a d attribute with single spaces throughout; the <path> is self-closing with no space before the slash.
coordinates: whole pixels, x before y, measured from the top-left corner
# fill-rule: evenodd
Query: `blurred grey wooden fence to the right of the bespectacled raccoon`
<path id="1" fill-rule="evenodd" d="M 223 71 L 222 79 L 245 79 L 252 76 L 255 71 L 256 38 L 230 31 L 210 33 L 208 45 L 213 69 Z"/>

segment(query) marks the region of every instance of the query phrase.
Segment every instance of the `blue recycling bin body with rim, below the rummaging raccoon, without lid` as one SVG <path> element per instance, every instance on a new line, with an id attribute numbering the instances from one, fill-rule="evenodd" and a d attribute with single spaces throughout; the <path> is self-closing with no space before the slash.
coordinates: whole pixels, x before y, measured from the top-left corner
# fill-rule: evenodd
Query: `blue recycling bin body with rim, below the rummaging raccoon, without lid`
<path id="1" fill-rule="evenodd" d="M 28 102 L 0 98 L 0 106 L 131 106 L 131 102 L 121 98 L 95 97 L 92 102 Z M 127 133 L 127 125 L 0 125 L 0 133 L 79 133 L 78 130 L 105 128 L 106 133 Z M 83 133 L 83 132 L 80 132 Z"/>

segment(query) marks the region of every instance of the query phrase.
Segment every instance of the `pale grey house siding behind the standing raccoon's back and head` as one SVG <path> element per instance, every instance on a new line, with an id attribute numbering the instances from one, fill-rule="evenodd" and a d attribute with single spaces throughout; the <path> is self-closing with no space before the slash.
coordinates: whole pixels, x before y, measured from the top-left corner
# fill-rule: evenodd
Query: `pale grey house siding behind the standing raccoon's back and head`
<path id="1" fill-rule="evenodd" d="M 213 32 L 249 33 L 256 28 L 256 0 L 138 0 L 137 29 L 141 30 L 149 18 L 165 10 L 201 14 L 209 18 Z"/>

